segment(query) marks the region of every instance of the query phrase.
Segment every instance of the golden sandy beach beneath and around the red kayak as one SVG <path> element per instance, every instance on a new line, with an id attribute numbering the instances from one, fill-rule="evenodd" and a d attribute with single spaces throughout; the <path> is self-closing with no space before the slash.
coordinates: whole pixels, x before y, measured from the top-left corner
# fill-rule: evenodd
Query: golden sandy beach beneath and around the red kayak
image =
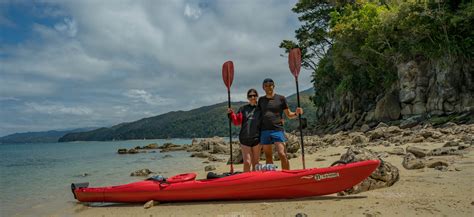
<path id="1" fill-rule="evenodd" d="M 416 146 L 425 149 L 442 147 L 444 143 L 406 143 L 398 147 Z M 390 151 L 394 146 L 367 147 L 374 151 Z M 463 156 L 442 156 L 450 162 L 447 171 L 432 168 L 407 170 L 403 168 L 403 155 L 387 155 L 385 161 L 400 170 L 400 180 L 391 187 L 362 192 L 355 195 L 336 194 L 285 200 L 209 201 L 163 203 L 149 209 L 143 204 L 83 205 L 73 210 L 61 210 L 63 216 L 472 216 L 474 213 L 474 152 L 468 148 Z M 328 147 L 306 155 L 307 167 L 327 167 L 339 159 L 346 147 Z M 316 161 L 323 158 L 324 161 Z M 293 169 L 301 168 L 301 158 L 290 160 Z M 278 165 L 280 162 L 277 161 Z M 203 167 L 207 164 L 203 164 Z M 226 172 L 224 163 L 212 162 L 217 170 Z M 236 166 L 237 170 L 242 165 Z M 206 174 L 196 170 L 198 178 Z"/>

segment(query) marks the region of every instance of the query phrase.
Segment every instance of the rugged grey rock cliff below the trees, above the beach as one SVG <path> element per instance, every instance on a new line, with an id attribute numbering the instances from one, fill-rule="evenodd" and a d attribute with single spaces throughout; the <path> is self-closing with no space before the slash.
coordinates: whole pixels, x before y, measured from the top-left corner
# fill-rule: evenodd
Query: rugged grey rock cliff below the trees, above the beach
<path id="1" fill-rule="evenodd" d="M 422 122 L 437 118 L 432 123 L 440 124 L 439 117 L 446 117 L 445 122 L 474 121 L 473 61 L 410 60 L 397 64 L 397 74 L 397 82 L 385 93 L 328 96 L 329 103 L 317 108 L 315 130 L 335 132 L 379 122 L 398 125 L 407 119 Z"/>

